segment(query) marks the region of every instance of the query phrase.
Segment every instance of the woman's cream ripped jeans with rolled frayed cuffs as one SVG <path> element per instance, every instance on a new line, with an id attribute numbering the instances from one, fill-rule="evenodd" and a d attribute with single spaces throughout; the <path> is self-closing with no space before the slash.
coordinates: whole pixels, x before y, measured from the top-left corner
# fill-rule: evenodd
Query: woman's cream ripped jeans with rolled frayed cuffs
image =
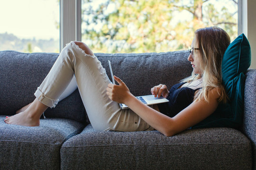
<path id="1" fill-rule="evenodd" d="M 86 54 L 74 42 L 61 51 L 58 59 L 37 88 L 37 99 L 52 108 L 58 103 L 70 81 L 75 76 L 82 102 L 94 129 L 99 131 L 153 130 L 130 109 L 121 110 L 106 94 L 110 79 L 101 62 Z"/>

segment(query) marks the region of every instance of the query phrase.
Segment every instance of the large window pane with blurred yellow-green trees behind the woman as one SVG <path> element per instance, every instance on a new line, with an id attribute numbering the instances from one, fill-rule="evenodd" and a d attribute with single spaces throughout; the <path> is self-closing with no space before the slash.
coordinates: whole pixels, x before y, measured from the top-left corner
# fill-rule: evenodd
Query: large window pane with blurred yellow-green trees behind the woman
<path id="1" fill-rule="evenodd" d="M 237 0 L 82 0 L 82 42 L 94 52 L 187 50 L 193 32 L 238 35 Z"/>

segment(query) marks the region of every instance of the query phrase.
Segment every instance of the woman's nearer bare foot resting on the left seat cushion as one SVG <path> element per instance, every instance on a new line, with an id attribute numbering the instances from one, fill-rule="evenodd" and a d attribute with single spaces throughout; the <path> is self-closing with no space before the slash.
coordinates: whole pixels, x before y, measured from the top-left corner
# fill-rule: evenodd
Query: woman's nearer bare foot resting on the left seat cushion
<path id="1" fill-rule="evenodd" d="M 6 117 L 4 120 L 7 124 L 13 124 L 13 125 L 23 125 L 23 126 L 39 126 L 40 120 L 38 118 L 35 118 L 35 116 L 30 116 L 28 112 L 20 112 L 16 115 L 13 115 L 11 117 Z"/>

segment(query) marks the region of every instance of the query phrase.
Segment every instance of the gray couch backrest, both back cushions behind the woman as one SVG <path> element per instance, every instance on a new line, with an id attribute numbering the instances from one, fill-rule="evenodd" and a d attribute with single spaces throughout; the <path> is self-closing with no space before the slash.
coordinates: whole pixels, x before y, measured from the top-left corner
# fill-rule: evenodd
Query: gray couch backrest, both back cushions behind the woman
<path id="1" fill-rule="evenodd" d="M 119 76 L 134 95 L 150 94 L 151 87 L 165 84 L 168 88 L 190 76 L 192 67 L 188 51 L 139 54 L 95 53 L 110 77 L 108 60 L 114 75 Z M 33 102 L 34 93 L 42 83 L 58 53 L 22 53 L 0 51 L 0 115 L 13 115 Z M 85 121 L 85 110 L 78 90 L 62 100 L 48 117 Z M 46 116 L 46 117 L 47 117 Z"/>

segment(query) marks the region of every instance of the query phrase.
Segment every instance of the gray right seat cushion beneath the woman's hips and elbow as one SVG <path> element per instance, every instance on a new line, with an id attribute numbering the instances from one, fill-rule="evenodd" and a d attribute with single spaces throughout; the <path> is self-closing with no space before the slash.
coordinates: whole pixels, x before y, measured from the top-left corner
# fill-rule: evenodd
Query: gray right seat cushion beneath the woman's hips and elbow
<path id="1" fill-rule="evenodd" d="M 81 159 L 82 158 L 82 159 Z M 250 141 L 232 128 L 96 132 L 91 125 L 61 147 L 61 169 L 249 170 Z"/>

